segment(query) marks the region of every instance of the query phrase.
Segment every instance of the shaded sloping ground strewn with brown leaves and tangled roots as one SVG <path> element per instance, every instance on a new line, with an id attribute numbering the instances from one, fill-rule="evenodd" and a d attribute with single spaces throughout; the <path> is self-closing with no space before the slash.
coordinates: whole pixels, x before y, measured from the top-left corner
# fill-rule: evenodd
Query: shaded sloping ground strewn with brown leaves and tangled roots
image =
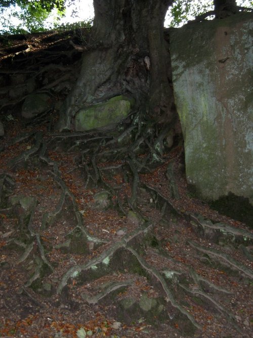
<path id="1" fill-rule="evenodd" d="M 131 133 L 53 131 L 68 35 L 2 41 L 1 335 L 251 337 L 253 235 L 191 196 L 180 142 L 151 171 Z M 32 92 L 53 104 L 24 120 Z"/>

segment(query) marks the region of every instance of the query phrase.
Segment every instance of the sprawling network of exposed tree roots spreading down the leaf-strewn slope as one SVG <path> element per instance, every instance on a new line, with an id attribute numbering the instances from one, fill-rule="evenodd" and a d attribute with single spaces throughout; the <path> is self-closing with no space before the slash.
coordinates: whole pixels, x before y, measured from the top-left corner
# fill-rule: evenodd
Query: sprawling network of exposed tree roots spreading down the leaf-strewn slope
<path id="1" fill-rule="evenodd" d="M 37 203 L 39 198 L 36 197 L 34 199 L 34 204 L 29 210 L 29 217 L 22 224 L 25 240 L 23 238 L 19 239 L 19 235 L 14 231 L 10 232 L 8 244 L 16 244 L 17 247 L 22 249 L 18 264 L 24 266 L 29 257 L 32 257 L 33 261 L 30 275 L 27 277 L 21 291 L 36 303 L 36 299 L 33 299 L 30 295 L 29 287 L 35 288 L 36 285 L 39 285 L 38 289 L 40 288 L 41 290 L 40 286 L 43 285 L 45 278 L 54 275 L 57 271 L 57 263 L 51 261 L 49 251 L 52 248 L 55 250 L 67 248 L 65 252 L 69 253 L 71 259 L 73 255 L 73 259 L 63 265 L 65 273 L 60 277 L 58 276 L 57 282 L 54 284 L 54 291 L 52 291 L 54 293 L 56 289 L 56 293 L 58 296 L 61 295 L 62 298 L 67 294 L 67 297 L 71 299 L 72 295 L 69 290 L 77 284 L 80 286 L 80 291 L 76 289 L 78 290 L 77 292 L 80 292 L 82 301 L 89 304 L 89 306 L 106 304 L 107 299 L 112 297 L 116 307 L 117 304 L 121 304 L 117 297 L 120 291 L 129 290 L 138 278 L 144 278 L 143 276 L 145 276 L 147 284 L 152 285 L 155 292 L 162 296 L 168 321 L 172 321 L 172 317 L 174 318 L 174 313 L 176 313 L 175 320 L 182 320 L 183 323 L 189 323 L 191 327 L 194 327 L 194 330 L 201 330 L 202 323 L 198 321 L 196 316 L 191 314 L 190 306 L 186 306 L 184 302 L 186 297 L 193 299 L 193 303 L 195 298 L 199 298 L 203 301 L 203 304 L 201 303 L 202 308 L 207 308 L 208 311 L 210 308 L 212 313 L 222 314 L 231 324 L 231 327 L 240 331 L 240 326 L 235 324 L 234 314 L 219 299 L 219 295 L 222 295 L 221 299 L 223 299 L 224 295 L 226 297 L 234 296 L 233 291 L 216 284 L 208 277 L 201 276 L 196 267 L 187 262 L 185 252 L 185 259 L 171 255 L 171 252 L 167 251 L 170 246 L 166 245 L 168 244 L 167 242 L 173 242 L 174 235 L 170 235 L 172 238 L 163 238 L 161 236 L 158 239 L 159 235 L 156 232 L 159 233 L 159 227 L 162 228 L 162 224 L 164 224 L 165 228 L 169 228 L 167 225 L 168 219 L 175 217 L 180 224 L 188 224 L 188 229 L 193 230 L 192 233 L 196 235 L 194 240 L 189 238 L 189 246 L 184 244 L 182 251 L 189 251 L 189 254 L 194 256 L 194 251 L 197 250 L 207 255 L 209 260 L 214 259 L 217 263 L 224 262 L 224 264 L 251 279 L 253 273 L 241 262 L 223 252 L 222 248 L 217 250 L 213 247 L 208 247 L 203 243 L 201 244 L 201 241 L 198 242 L 197 239 L 199 237 L 207 238 L 210 242 L 217 243 L 218 240 L 225 237 L 229 243 L 233 244 L 235 248 L 241 248 L 245 256 L 250 258 L 250 245 L 253 235 L 249 231 L 234 228 L 225 223 L 214 224 L 208 219 L 201 218 L 200 215 L 192 215 L 177 210 L 173 204 L 173 201 L 180 198 L 174 174 L 175 162 L 173 160 L 168 162 L 151 145 L 154 144 L 151 141 L 155 131 L 152 131 L 152 137 L 150 136 L 150 138 L 149 136 L 142 136 L 143 133 L 144 131 L 141 128 L 138 129 L 138 125 L 132 121 L 123 133 L 117 133 L 116 135 L 118 136 L 115 137 L 99 132 L 47 134 L 45 137 L 41 132 L 36 134 L 35 132 L 30 132 L 11 140 L 11 144 L 19 144 L 31 139 L 34 141 L 34 145 L 30 149 L 9 163 L 11 170 L 18 170 L 19 167 L 25 167 L 24 165 L 37 167 L 41 164 L 44 172 L 50 177 L 52 186 L 57 186 L 57 196 L 54 198 L 54 205 L 49 211 L 45 212 L 44 209 L 42 212 L 39 209 L 39 203 Z M 163 141 L 161 134 L 156 133 L 155 136 L 159 138 L 157 142 L 159 147 L 162 146 Z M 166 133 L 164 132 L 163 135 L 166 135 Z M 130 145 L 122 141 L 129 137 L 131 139 L 134 138 Z M 111 236 L 109 237 L 108 235 L 108 238 L 90 233 L 87 227 L 89 223 L 86 222 L 83 214 L 92 203 L 87 202 L 82 205 L 82 208 L 80 207 L 77 197 L 73 193 L 75 191 L 71 190 L 70 185 L 66 182 L 66 176 L 64 176 L 66 172 L 62 171 L 61 164 L 57 160 L 48 155 L 49 149 L 63 148 L 65 149 L 65 154 L 73 154 L 72 158 L 75 161 L 73 168 L 68 168 L 68 173 L 75 174 L 75 170 L 78 170 L 78 175 L 81 173 L 82 176 L 81 178 L 76 176 L 76 178 L 82 179 L 83 186 L 87 190 L 88 187 L 96 192 L 105 189 L 108 196 L 110 196 L 110 207 L 124 215 L 124 220 L 132 221 L 131 226 L 133 228 L 129 233 L 127 230 L 120 229 L 119 235 L 112 235 L 109 230 L 106 230 L 106 233 Z M 115 162 L 105 163 L 108 161 Z M 167 162 L 168 166 L 166 168 L 164 163 Z M 168 182 L 168 196 L 171 196 L 172 200 L 163 196 L 157 187 L 155 188 L 142 182 L 141 174 L 152 173 L 152 169 L 161 164 L 164 165 L 164 176 Z M 7 214 L 10 210 L 14 210 L 13 208 L 9 210 L 8 204 L 8 194 L 11 194 L 14 186 L 12 175 L 4 174 L 0 177 L 0 202 L 1 207 L 3 209 L 6 208 Z M 126 187 L 128 192 L 124 191 Z M 156 218 L 158 223 L 161 221 L 159 226 L 152 221 L 152 216 L 149 217 L 145 213 L 145 204 L 146 206 L 148 205 L 148 209 L 151 209 L 152 205 L 153 211 L 159 213 Z M 54 231 L 58 220 L 61 217 L 64 218 L 66 212 L 70 215 L 69 217 L 72 217 L 71 229 L 68 229 L 68 232 L 64 234 L 65 238 L 64 240 L 61 239 L 60 244 L 59 242 L 57 244 L 50 243 L 47 246 L 43 233 L 47 233 L 48 229 Z M 135 218 L 131 218 L 133 215 Z M 37 217 L 36 226 L 33 224 L 35 217 Z M 164 220 L 163 223 L 162 220 Z M 106 229 L 101 224 L 100 227 Z M 101 231 L 101 229 L 99 230 Z M 92 250 L 89 247 L 87 251 L 83 251 L 85 254 L 81 255 L 82 261 L 85 261 L 84 264 L 76 264 L 75 253 L 72 254 L 69 247 L 65 245 L 67 242 L 72 243 L 76 240 L 76 233 L 82 239 L 81 245 L 83 243 L 86 243 L 87 246 L 92 244 Z M 94 244 L 95 248 L 93 248 Z M 153 261 L 151 260 L 151 262 L 148 250 L 152 250 Z M 89 254 L 89 258 L 85 256 L 86 254 Z M 77 259 L 79 258 L 78 256 Z M 125 257 L 128 257 L 128 259 L 123 262 Z M 158 261 L 164 261 L 166 268 L 156 266 L 156 258 Z M 199 264 L 202 264 L 202 260 L 198 259 L 198 261 Z M 128 266 L 130 272 L 126 273 L 124 270 Z M 133 267 L 135 269 L 132 271 L 131 268 Z M 99 283 L 99 287 L 93 287 L 92 292 L 90 292 L 91 289 L 88 286 L 90 283 L 96 285 L 98 276 L 102 279 L 104 277 L 106 281 Z M 121 276 L 123 277 L 121 278 Z M 89 283 L 87 283 L 87 280 L 89 280 Z M 83 291 L 82 287 L 85 291 Z M 149 297 L 152 303 L 152 294 Z M 43 306 L 39 302 L 37 305 Z M 170 315 L 170 313 L 173 313 L 173 315 Z M 148 312 L 144 312 L 144 314 L 148 316 Z"/>

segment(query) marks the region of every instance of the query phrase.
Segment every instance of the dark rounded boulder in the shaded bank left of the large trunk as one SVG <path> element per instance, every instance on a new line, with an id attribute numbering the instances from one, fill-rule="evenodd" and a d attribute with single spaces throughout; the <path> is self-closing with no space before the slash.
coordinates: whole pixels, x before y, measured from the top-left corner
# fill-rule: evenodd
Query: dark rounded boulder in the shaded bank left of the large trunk
<path id="1" fill-rule="evenodd" d="M 47 94 L 28 95 L 22 106 L 22 116 L 31 119 L 52 107 L 51 97 Z"/>

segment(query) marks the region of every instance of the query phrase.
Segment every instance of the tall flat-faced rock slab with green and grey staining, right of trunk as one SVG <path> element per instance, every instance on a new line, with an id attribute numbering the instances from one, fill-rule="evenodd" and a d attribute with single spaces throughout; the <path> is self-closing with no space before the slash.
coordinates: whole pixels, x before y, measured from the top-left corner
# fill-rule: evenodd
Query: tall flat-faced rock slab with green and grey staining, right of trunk
<path id="1" fill-rule="evenodd" d="M 252 19 L 232 15 L 171 33 L 187 180 L 207 200 L 231 192 L 253 203 Z"/>

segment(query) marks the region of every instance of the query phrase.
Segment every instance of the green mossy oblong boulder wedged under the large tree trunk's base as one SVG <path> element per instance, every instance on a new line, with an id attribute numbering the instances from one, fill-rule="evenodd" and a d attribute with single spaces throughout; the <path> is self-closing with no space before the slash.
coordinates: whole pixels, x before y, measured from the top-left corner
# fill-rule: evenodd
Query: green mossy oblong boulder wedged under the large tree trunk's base
<path id="1" fill-rule="evenodd" d="M 129 115 L 132 103 L 132 99 L 119 95 L 107 102 L 80 109 L 75 115 L 75 130 L 110 129 Z"/>

